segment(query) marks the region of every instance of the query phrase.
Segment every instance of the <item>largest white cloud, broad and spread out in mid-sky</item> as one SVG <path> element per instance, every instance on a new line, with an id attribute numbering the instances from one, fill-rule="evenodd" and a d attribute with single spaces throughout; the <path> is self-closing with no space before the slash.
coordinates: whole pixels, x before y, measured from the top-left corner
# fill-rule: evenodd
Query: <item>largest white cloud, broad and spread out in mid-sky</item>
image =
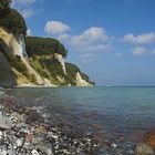
<path id="1" fill-rule="evenodd" d="M 106 52 L 112 50 L 108 37 L 103 28 L 92 27 L 79 35 L 60 34 L 59 40 L 69 44 L 75 51 Z"/>

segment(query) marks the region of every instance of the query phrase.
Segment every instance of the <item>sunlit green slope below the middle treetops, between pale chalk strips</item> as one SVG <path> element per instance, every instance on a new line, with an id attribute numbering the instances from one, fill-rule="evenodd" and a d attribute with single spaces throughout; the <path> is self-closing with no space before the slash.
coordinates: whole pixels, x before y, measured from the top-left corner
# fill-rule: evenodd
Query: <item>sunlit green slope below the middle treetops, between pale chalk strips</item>
<path id="1" fill-rule="evenodd" d="M 53 55 L 34 56 L 30 61 L 32 68 L 40 73 L 41 76 L 51 81 L 56 85 L 74 84 L 68 75 L 63 73 L 62 65 Z"/>

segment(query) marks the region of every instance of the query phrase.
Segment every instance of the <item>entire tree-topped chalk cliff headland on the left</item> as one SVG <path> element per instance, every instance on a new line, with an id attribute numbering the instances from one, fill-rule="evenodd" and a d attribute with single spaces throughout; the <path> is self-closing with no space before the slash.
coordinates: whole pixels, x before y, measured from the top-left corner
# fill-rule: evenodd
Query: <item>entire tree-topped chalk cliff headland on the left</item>
<path id="1" fill-rule="evenodd" d="M 25 37 L 22 16 L 0 1 L 0 86 L 93 86 L 55 39 Z"/>

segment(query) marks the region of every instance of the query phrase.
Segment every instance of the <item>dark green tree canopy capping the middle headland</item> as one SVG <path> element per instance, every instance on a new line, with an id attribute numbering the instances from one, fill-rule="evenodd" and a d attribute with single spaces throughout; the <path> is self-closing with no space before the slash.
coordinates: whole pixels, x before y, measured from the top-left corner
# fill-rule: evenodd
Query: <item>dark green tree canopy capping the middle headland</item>
<path id="1" fill-rule="evenodd" d="M 68 51 L 58 40 L 50 38 L 27 37 L 25 49 L 29 56 L 58 53 L 65 58 L 68 54 Z"/>

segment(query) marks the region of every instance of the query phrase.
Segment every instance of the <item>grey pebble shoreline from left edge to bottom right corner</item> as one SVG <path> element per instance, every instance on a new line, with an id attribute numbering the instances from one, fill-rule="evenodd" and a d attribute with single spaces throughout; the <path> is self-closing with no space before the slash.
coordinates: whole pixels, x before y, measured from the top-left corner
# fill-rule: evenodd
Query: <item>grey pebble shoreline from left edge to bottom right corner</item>
<path id="1" fill-rule="evenodd" d="M 79 124 L 59 122 L 53 112 L 49 113 L 48 107 L 7 95 L 0 89 L 2 120 L 8 122 L 8 126 L 0 122 L 0 154 L 141 155 L 142 151 L 154 154 L 146 144 L 120 137 L 106 138 L 102 133 L 90 132 Z"/>

